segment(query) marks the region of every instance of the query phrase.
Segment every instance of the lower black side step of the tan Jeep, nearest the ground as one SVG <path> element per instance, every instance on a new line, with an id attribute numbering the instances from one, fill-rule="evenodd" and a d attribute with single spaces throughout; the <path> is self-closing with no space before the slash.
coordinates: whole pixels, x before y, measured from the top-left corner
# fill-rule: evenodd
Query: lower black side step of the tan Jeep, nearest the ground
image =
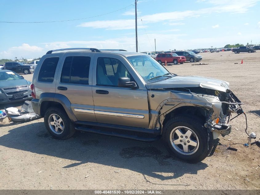
<path id="1" fill-rule="evenodd" d="M 82 126 L 77 126 L 77 127 L 75 127 L 75 129 L 78 131 L 98 133 L 98 134 L 107 135 L 107 136 L 116 136 L 116 137 L 138 140 L 138 141 L 146 141 L 146 142 L 156 141 L 161 138 L 161 135 L 158 135 L 156 137 L 139 137 L 136 135 L 127 135 L 127 134 L 116 133 L 113 131 L 96 130 L 96 129 L 86 128 L 86 127 L 82 127 Z"/>

